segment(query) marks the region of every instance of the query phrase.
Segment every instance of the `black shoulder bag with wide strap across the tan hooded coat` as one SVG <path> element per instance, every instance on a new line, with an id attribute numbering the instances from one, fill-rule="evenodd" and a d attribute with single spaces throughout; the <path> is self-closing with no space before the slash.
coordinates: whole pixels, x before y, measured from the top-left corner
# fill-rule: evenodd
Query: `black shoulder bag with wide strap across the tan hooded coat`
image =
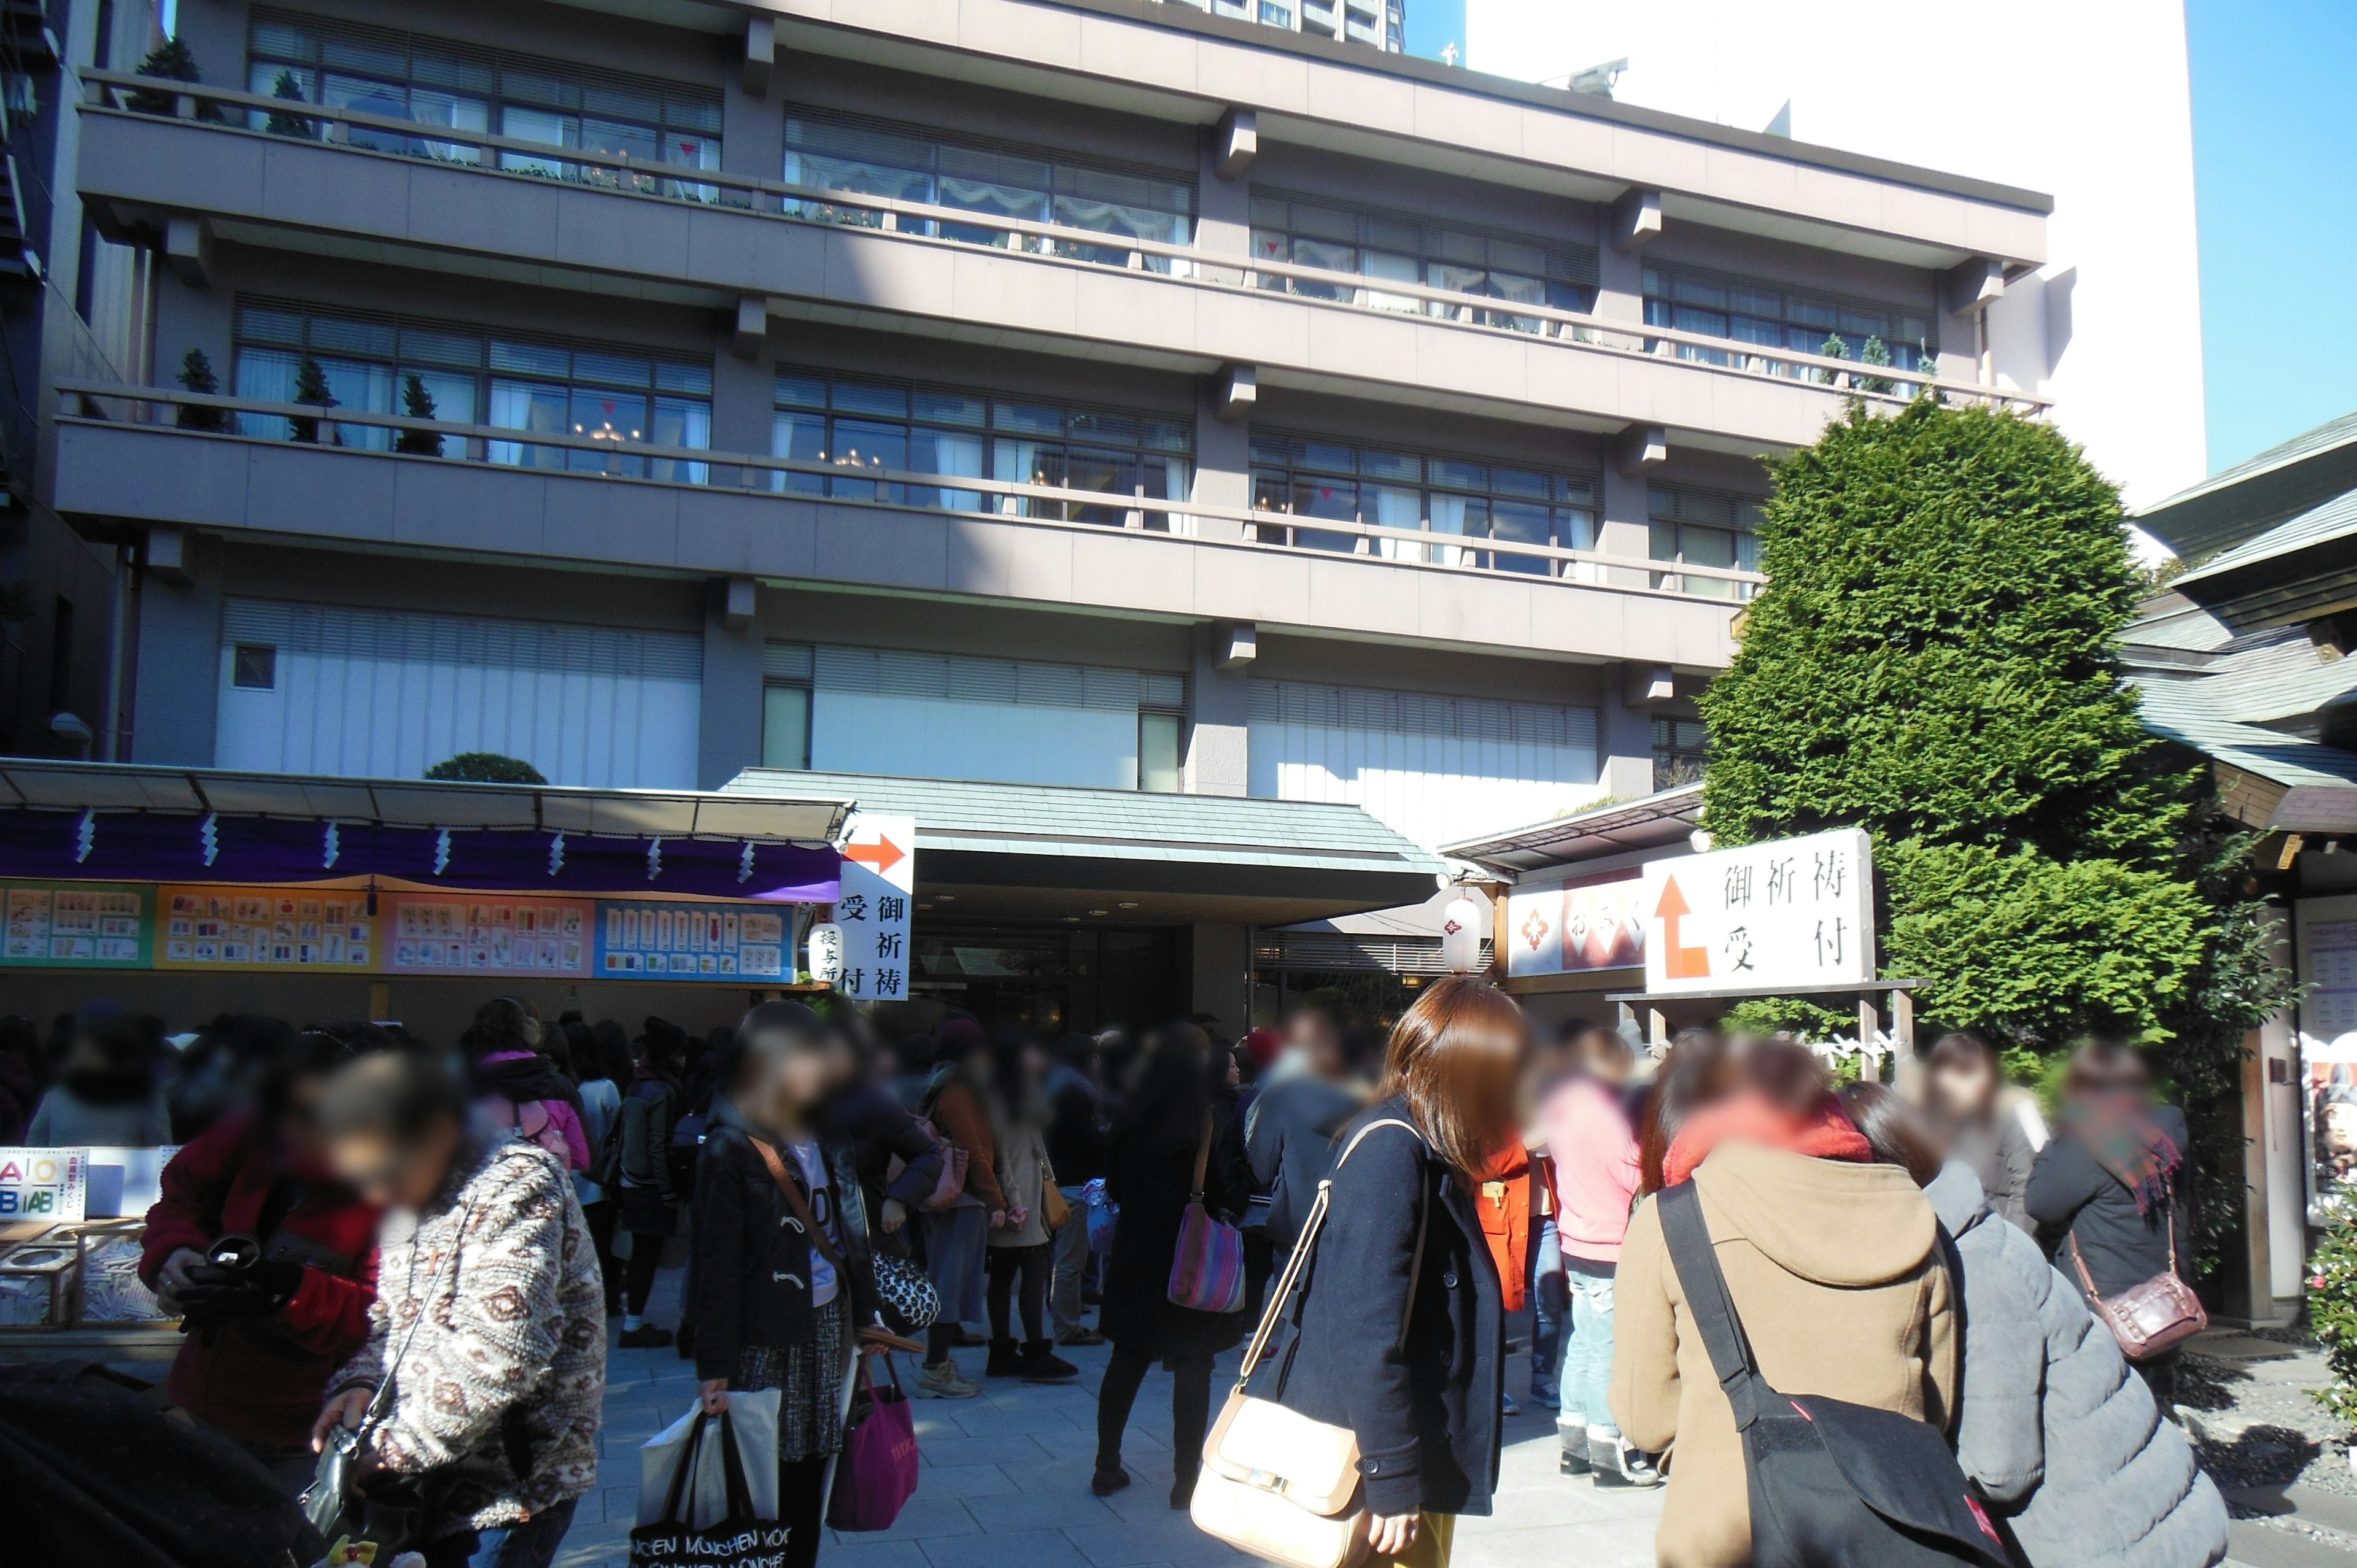
<path id="1" fill-rule="evenodd" d="M 1664 1188 L 1657 1203 L 1669 1261 L 1744 1441 L 1754 1568 L 2011 1568 L 1996 1526 L 1935 1427 L 1768 1386 L 1695 1184 Z"/>

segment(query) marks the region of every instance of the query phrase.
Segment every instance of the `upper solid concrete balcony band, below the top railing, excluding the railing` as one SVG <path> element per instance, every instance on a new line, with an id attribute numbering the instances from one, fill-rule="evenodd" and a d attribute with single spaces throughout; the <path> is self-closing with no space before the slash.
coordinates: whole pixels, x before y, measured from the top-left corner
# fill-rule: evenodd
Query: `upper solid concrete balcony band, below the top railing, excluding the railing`
<path id="1" fill-rule="evenodd" d="M 726 311 L 752 297 L 775 316 L 1190 375 L 1252 363 L 1268 387 L 1659 427 L 1739 455 L 1808 446 L 1848 406 L 1815 382 L 1572 337 L 90 106 L 78 191 L 118 238 L 203 215 L 214 243 Z"/>

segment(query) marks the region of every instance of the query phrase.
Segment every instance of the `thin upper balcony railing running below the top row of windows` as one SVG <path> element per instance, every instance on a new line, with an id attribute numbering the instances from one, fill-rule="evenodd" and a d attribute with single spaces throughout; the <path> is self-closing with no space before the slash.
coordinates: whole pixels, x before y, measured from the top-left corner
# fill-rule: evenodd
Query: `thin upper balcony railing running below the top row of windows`
<path id="1" fill-rule="evenodd" d="M 269 116 L 283 116 L 278 134 L 299 134 L 302 139 L 328 141 L 372 158 L 422 158 L 504 179 L 559 179 L 634 200 L 717 205 L 773 222 L 860 226 L 893 233 L 905 243 L 981 245 L 1075 266 L 1150 271 L 1186 288 L 1282 290 L 1306 307 L 1318 309 L 1407 314 L 1464 332 L 1537 335 L 1582 354 L 1678 358 L 1681 365 L 1690 365 L 1697 375 L 1798 380 L 1876 406 L 1902 406 L 1926 384 L 1952 401 L 1989 403 L 2025 413 L 2039 413 L 2051 403 L 2051 398 L 2006 387 L 1926 377 L 1923 373 L 1902 373 L 1888 365 L 1860 365 L 1857 361 L 1798 349 L 1730 344 L 1725 337 L 1650 328 L 1551 304 L 1511 302 L 1511 307 L 1501 309 L 1497 295 L 1471 295 L 1405 278 L 1367 278 L 1322 266 L 1268 262 L 1129 233 L 1075 229 L 1070 224 L 997 217 L 896 196 L 865 196 L 783 179 L 648 163 L 627 153 L 599 153 L 594 149 L 464 132 L 354 108 L 328 108 L 229 87 L 205 87 L 200 83 L 172 83 L 125 75 L 120 71 L 82 71 L 80 75 L 85 108 L 106 113 L 165 113 L 170 108 L 172 118 L 205 118 L 210 127 L 224 134 L 269 137 L 273 132 L 247 130 L 240 120 L 264 116 L 264 125 L 269 125 Z M 134 99 L 141 106 L 132 108 Z"/>

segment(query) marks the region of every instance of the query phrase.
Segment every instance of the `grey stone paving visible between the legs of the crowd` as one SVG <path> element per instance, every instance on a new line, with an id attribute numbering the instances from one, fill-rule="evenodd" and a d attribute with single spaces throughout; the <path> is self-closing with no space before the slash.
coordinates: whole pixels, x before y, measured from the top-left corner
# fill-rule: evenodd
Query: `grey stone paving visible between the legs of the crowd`
<path id="1" fill-rule="evenodd" d="M 660 1276 L 653 1318 L 676 1323 L 679 1273 Z M 620 1323 L 620 1320 L 615 1320 Z M 992 1379 L 978 1398 L 915 1401 L 924 1481 L 879 1535 L 834 1535 L 825 1568 L 1221 1568 L 1247 1563 L 1169 1507 L 1169 1375 L 1155 1370 L 1138 1394 L 1124 1460 L 1131 1485 L 1089 1495 L 1096 1455 L 1096 1384 L 1105 1351 L 1063 1351 L 1080 1379 L 1032 1386 Z M 983 1351 L 959 1351 L 978 1377 Z M 910 1368 L 903 1368 L 903 1382 Z M 1235 1375 L 1221 1358 L 1214 1401 Z M 1508 1386 L 1520 1391 L 1516 1358 Z M 606 1441 L 596 1495 L 585 1497 L 559 1568 L 603 1568 L 629 1559 L 639 1507 L 639 1445 L 679 1419 L 695 1398 L 695 1375 L 672 1351 L 613 1351 L 606 1379 Z M 1527 1401 L 1525 1401 L 1527 1403 Z M 1457 1533 L 1459 1568 L 1650 1568 L 1659 1493 L 1598 1493 L 1556 1474 L 1553 1417 L 1525 1412 L 1506 1424 L 1504 1485 L 1490 1518 Z"/>

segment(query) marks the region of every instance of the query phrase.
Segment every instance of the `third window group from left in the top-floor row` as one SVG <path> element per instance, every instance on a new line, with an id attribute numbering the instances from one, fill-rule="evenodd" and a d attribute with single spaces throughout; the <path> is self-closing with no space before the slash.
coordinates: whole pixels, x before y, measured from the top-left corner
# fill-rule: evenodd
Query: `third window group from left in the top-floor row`
<path id="1" fill-rule="evenodd" d="M 1303 196 L 1252 196 L 1252 255 L 1369 278 L 1365 288 L 1263 276 L 1261 288 L 1308 299 L 1346 299 L 1490 328 L 1537 332 L 1537 316 L 1384 292 L 1379 283 L 1424 283 L 1558 311 L 1596 309 L 1596 250 L 1475 229 L 1442 229 L 1412 215 L 1365 212 Z"/>

